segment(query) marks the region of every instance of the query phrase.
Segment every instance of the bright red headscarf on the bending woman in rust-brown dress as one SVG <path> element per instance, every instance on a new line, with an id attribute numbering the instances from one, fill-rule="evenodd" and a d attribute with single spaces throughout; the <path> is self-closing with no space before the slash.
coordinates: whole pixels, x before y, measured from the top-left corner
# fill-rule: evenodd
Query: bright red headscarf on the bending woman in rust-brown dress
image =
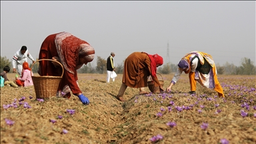
<path id="1" fill-rule="evenodd" d="M 149 54 L 147 54 L 149 55 Z M 151 61 L 151 75 L 152 77 L 157 77 L 157 65 L 163 65 L 163 57 L 160 55 L 149 55 L 149 59 Z"/>

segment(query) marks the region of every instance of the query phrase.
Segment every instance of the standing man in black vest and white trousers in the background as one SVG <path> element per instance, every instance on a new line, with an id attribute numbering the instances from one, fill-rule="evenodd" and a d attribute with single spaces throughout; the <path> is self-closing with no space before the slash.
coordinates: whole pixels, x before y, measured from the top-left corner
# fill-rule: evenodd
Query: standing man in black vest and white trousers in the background
<path id="1" fill-rule="evenodd" d="M 115 53 L 113 52 L 107 57 L 107 83 L 109 83 L 111 74 L 115 71 L 114 57 Z M 112 81 L 115 81 L 115 77 L 112 78 Z"/>

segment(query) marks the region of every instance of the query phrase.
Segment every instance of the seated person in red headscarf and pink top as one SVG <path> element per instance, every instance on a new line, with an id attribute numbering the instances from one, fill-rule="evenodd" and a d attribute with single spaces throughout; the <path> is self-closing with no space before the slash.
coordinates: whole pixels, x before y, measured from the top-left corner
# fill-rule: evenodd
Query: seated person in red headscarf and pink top
<path id="1" fill-rule="evenodd" d="M 33 85 L 31 69 L 29 68 L 29 63 L 24 62 L 22 65 L 23 69 L 21 72 L 21 77 L 16 77 L 16 84 L 21 87 L 27 87 Z"/>

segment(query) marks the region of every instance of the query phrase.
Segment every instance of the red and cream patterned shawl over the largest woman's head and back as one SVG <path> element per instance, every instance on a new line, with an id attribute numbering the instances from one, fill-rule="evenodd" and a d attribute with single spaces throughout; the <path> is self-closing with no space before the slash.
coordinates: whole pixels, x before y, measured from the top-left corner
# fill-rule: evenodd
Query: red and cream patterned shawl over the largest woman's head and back
<path id="1" fill-rule="evenodd" d="M 88 62 L 94 59 L 93 47 L 87 41 L 83 41 L 71 33 L 62 32 L 56 35 L 55 45 L 61 64 L 69 73 L 74 74 L 83 66 L 83 63 L 79 63 L 79 57 L 85 57 Z"/>

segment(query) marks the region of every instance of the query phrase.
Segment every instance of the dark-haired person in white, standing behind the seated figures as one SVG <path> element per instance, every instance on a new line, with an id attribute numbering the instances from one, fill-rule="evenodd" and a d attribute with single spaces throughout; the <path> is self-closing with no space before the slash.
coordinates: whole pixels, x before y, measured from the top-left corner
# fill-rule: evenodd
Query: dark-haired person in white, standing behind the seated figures
<path id="1" fill-rule="evenodd" d="M 27 50 L 27 47 L 23 45 L 19 51 L 16 51 L 16 53 L 13 56 L 12 64 L 13 64 L 13 73 L 18 73 L 21 77 L 22 72 L 22 65 L 24 62 L 27 62 L 27 57 L 35 63 L 35 60 L 33 59 L 32 55 L 29 54 L 29 50 Z"/>

